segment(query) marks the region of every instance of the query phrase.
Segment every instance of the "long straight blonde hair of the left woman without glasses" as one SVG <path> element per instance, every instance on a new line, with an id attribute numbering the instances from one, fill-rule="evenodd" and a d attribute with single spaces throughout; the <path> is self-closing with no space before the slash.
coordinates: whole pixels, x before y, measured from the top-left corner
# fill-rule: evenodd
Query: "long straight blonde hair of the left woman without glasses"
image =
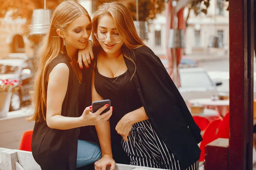
<path id="1" fill-rule="evenodd" d="M 52 59 L 58 56 L 63 47 L 63 39 L 58 37 L 56 30 L 65 30 L 69 23 L 82 14 L 88 16 L 91 21 L 90 15 L 86 9 L 74 0 L 62 2 L 52 14 L 49 31 L 44 36 L 40 48 L 38 49 L 38 70 L 34 78 L 34 94 L 32 96 L 35 112 L 28 119 L 29 121 L 40 122 L 41 116 L 46 120 L 44 115 L 47 101 L 47 91 L 44 84 L 46 80 L 46 71 L 49 63 Z"/>

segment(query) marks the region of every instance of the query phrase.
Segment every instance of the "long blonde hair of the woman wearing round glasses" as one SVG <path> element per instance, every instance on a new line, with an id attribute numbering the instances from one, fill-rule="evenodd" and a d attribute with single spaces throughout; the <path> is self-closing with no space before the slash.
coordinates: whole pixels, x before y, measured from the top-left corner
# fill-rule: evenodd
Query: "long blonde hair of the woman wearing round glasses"
<path id="1" fill-rule="evenodd" d="M 122 46 L 124 56 L 131 60 L 135 65 L 135 54 L 133 53 L 133 55 L 128 55 L 128 53 L 125 53 L 125 51 L 145 46 L 145 44 L 137 34 L 131 12 L 122 3 L 103 3 L 102 6 L 99 6 L 93 16 L 93 34 L 97 33 L 100 18 L 106 14 L 111 15 L 116 24 L 116 29 L 119 32 L 119 35 L 122 37 L 124 42 L 124 45 Z M 95 36 L 93 36 L 93 45 L 96 47 L 100 46 L 99 41 Z M 135 72 L 136 65 L 134 74 Z"/>

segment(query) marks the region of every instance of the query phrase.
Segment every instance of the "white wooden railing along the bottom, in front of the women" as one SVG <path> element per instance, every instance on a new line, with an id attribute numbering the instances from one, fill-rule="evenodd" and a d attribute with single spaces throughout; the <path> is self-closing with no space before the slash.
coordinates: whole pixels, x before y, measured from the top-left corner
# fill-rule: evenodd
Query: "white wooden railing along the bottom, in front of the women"
<path id="1" fill-rule="evenodd" d="M 107 168 L 109 170 L 109 168 Z M 0 170 L 41 170 L 31 152 L 12 150 L 0 147 Z M 116 164 L 116 170 L 163 170 L 139 167 L 127 164 Z"/>

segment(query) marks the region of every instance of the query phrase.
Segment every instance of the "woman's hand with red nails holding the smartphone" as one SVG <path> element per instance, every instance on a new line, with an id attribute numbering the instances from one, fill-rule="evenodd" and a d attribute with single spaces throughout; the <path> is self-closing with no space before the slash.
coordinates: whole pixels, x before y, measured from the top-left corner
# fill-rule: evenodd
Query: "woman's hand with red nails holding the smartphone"
<path id="1" fill-rule="evenodd" d="M 102 115 L 99 115 L 108 108 L 108 104 L 102 106 L 95 113 L 92 113 L 92 106 L 85 108 L 83 114 L 80 116 L 81 126 L 89 126 L 89 125 L 98 125 L 102 122 L 106 122 L 112 115 L 113 107 L 110 107 L 110 110 Z"/>

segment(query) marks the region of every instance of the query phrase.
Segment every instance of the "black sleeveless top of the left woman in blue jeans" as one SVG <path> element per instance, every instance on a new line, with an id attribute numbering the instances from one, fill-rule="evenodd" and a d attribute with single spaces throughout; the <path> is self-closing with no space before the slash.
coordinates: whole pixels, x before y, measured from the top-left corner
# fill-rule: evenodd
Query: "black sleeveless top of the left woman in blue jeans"
<path id="1" fill-rule="evenodd" d="M 85 88 L 79 83 L 71 65 L 71 59 L 66 54 L 59 54 L 53 59 L 46 71 L 44 85 L 47 91 L 47 78 L 52 69 L 59 63 L 65 63 L 69 68 L 67 93 L 64 98 L 61 115 L 79 116 L 79 88 Z M 61 76 L 61 75 L 60 75 Z M 83 80 L 84 81 L 84 80 Z M 46 107 L 44 109 L 46 114 Z M 51 129 L 41 116 L 41 122 L 36 122 L 32 136 L 32 154 L 42 170 L 76 170 L 77 141 L 79 129 Z"/>

